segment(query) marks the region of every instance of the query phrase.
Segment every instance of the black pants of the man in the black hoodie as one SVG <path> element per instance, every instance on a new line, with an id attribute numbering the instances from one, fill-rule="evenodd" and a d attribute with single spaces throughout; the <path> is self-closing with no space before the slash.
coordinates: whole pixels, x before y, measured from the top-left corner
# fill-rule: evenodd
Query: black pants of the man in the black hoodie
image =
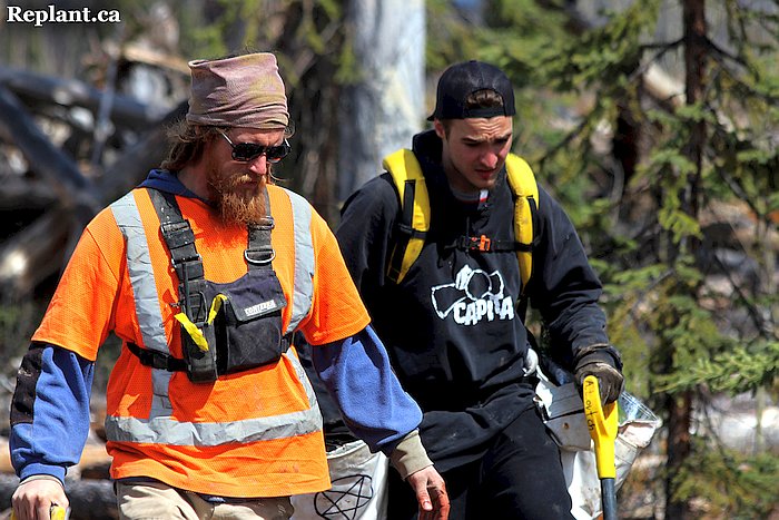
<path id="1" fill-rule="evenodd" d="M 396 471 L 389 474 L 388 520 L 416 519 L 411 487 Z M 452 503 L 450 520 L 573 519 L 560 451 L 535 408 L 509 424 L 481 460 L 442 477 Z"/>

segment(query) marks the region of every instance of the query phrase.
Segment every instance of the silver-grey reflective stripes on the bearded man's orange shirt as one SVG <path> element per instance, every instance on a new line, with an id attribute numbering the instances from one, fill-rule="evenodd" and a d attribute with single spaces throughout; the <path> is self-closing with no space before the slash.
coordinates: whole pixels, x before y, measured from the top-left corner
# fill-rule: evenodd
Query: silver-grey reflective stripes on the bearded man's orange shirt
<path id="1" fill-rule="evenodd" d="M 314 293 L 314 245 L 310 236 L 310 206 L 299 195 L 286 189 L 283 192 L 289 196 L 292 203 L 295 233 L 293 313 L 287 326 L 287 332 L 292 332 L 310 308 Z M 127 243 L 127 269 L 144 345 L 170 354 L 148 242 L 134 193 L 130 192 L 111 204 L 110 208 Z M 303 365 L 292 350 L 283 355 L 294 367 L 306 392 L 308 410 L 224 423 L 180 422 L 170 416 L 172 406 L 168 385 L 172 372 L 150 369 L 152 403 L 149 418 L 108 416 L 106 435 L 109 441 L 117 442 L 214 447 L 230 442 L 285 439 L 322 430 L 319 406 Z"/>

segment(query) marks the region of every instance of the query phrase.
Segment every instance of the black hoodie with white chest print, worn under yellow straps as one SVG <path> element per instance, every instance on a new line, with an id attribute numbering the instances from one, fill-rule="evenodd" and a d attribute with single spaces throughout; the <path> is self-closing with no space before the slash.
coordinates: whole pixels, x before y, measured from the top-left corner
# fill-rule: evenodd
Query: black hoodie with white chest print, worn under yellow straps
<path id="1" fill-rule="evenodd" d="M 516 255 L 455 247 L 461 236 L 513 241 L 514 203 L 505 169 L 486 203 L 455 197 L 434 131 L 416 135 L 413 150 L 428 187 L 431 229 L 401 284 L 385 277 L 400 215 L 388 174 L 349 197 L 336 237 L 401 383 L 425 412 L 428 454 L 447 471 L 480 458 L 493 435 L 533 405 Z M 527 294 L 555 356 L 570 363 L 580 349 L 608 343 L 596 304 L 601 284 L 570 219 L 541 187 L 539 216 Z"/>

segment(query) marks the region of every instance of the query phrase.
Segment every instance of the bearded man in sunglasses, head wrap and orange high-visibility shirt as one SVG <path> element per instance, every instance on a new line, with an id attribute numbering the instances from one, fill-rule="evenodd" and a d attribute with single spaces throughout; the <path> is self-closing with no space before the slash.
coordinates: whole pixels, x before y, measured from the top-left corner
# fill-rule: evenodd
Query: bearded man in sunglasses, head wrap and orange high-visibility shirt
<path id="1" fill-rule="evenodd" d="M 335 237 L 306 200 L 268 184 L 292 135 L 275 57 L 189 66 L 189 111 L 168 159 L 88 225 L 22 361 L 17 519 L 68 504 L 65 475 L 109 332 L 122 341 L 106 419 L 120 518 L 289 518 L 289 496 L 329 487 L 297 331 L 352 430 L 391 458 L 422 517 L 445 519 L 421 411 Z"/>

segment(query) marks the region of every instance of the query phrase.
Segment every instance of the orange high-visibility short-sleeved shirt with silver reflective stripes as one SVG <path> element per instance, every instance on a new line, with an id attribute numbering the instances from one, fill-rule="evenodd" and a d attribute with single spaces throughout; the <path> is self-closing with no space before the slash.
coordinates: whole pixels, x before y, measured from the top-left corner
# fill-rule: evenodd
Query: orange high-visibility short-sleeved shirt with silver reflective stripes
<path id="1" fill-rule="evenodd" d="M 313 345 L 339 341 L 369 318 L 326 223 L 294 193 L 268 186 L 273 262 L 287 306 L 286 333 Z M 206 279 L 246 271 L 244 226 L 226 226 L 205 203 L 177 197 L 195 233 Z M 101 212 L 85 230 L 33 341 L 96 360 L 109 332 L 183 357 L 178 278 L 144 188 Z M 191 383 L 185 372 L 140 364 L 127 349 L 107 391 L 111 477 L 151 477 L 224 497 L 278 497 L 329 488 L 316 398 L 294 347 L 277 363 Z"/>

